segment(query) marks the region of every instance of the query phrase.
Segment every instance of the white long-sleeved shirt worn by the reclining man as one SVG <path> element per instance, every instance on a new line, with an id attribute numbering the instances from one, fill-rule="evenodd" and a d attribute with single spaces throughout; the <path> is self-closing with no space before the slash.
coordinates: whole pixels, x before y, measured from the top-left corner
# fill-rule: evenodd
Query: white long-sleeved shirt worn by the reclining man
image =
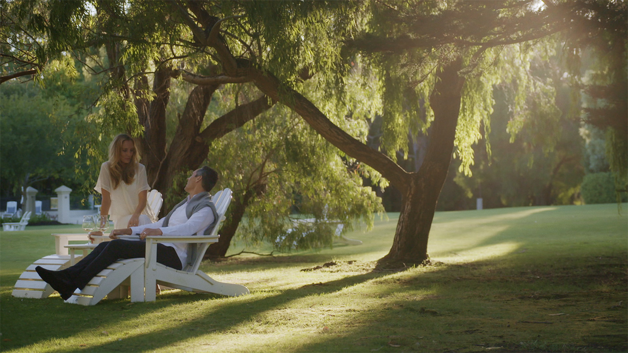
<path id="1" fill-rule="evenodd" d="M 162 227 L 163 218 L 157 222 L 138 225 L 137 227 L 131 227 L 132 234 L 140 234 L 144 229 L 160 229 L 164 236 L 202 236 L 205 229 L 214 222 L 214 212 L 210 207 L 203 207 L 198 210 L 190 219 L 185 214 L 185 207 L 190 202 L 190 196 L 185 204 L 181 205 L 170 216 L 168 221 L 168 227 Z M 175 248 L 176 254 L 181 260 L 181 265 L 185 268 L 188 262 L 188 244 L 185 242 L 173 242 L 163 243 L 165 246 L 171 246 Z"/>

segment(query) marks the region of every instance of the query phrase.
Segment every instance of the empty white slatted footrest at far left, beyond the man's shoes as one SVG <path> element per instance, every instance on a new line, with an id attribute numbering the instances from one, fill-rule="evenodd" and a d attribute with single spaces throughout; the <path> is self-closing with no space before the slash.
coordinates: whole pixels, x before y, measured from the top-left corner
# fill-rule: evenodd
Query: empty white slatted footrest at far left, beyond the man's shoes
<path id="1" fill-rule="evenodd" d="M 79 256 L 76 259 L 81 259 Z M 48 283 L 41 280 L 39 274 L 35 272 L 35 268 L 41 266 L 51 271 L 68 268 L 70 266 L 69 255 L 48 255 L 35 261 L 26 268 L 15 283 L 13 293 L 11 295 L 18 298 L 48 298 L 55 290 Z"/>

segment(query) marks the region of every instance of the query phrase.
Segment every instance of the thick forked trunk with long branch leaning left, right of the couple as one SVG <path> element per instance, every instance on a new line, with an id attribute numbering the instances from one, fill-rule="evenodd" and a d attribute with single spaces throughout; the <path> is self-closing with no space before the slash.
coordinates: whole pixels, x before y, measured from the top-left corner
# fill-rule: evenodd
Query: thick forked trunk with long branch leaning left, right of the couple
<path id="1" fill-rule="evenodd" d="M 349 136 L 298 92 L 290 92 L 290 98 L 280 95 L 278 82 L 270 75 L 255 75 L 254 82 L 264 94 L 290 106 L 323 138 L 347 155 L 379 171 L 403 195 L 393 247 L 381 259 L 381 266 L 408 266 L 428 259 L 428 236 L 436 201 L 452 160 L 464 83 L 464 79 L 458 76 L 460 68 L 462 60 L 458 59 L 436 75 L 435 89 L 430 96 L 435 119 L 428 151 L 417 173 L 408 173 L 386 155 Z"/>

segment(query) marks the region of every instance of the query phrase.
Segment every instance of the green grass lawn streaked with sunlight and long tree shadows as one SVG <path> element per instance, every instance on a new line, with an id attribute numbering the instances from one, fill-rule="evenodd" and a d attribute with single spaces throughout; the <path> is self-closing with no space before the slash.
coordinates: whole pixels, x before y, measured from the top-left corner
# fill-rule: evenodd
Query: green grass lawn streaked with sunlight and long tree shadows
<path id="1" fill-rule="evenodd" d="M 626 352 L 627 213 L 625 204 L 621 214 L 614 204 L 440 212 L 432 266 L 378 271 L 398 217 L 389 214 L 347 234 L 359 246 L 202 265 L 251 295 L 171 290 L 94 307 L 11 296 L 23 269 L 54 253 L 50 234 L 80 226 L 2 232 L 0 350 Z"/>

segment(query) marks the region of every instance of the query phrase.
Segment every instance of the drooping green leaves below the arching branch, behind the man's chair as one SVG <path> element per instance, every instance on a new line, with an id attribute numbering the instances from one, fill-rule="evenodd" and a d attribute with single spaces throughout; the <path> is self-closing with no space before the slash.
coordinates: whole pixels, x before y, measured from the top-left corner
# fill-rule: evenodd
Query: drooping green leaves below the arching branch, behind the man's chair
<path id="1" fill-rule="evenodd" d="M 373 212 L 382 210 L 371 188 L 362 186 L 359 165 L 349 171 L 337 149 L 283 106 L 214 141 L 208 163 L 222 171 L 220 187 L 232 188 L 234 197 L 263 190 L 237 231 L 248 244 L 269 241 L 283 250 L 295 241 L 300 249 L 331 246 L 333 232 L 323 220 L 345 222 L 350 229 L 359 219 L 372 224 Z M 320 222 L 288 232 L 292 212 Z"/>

